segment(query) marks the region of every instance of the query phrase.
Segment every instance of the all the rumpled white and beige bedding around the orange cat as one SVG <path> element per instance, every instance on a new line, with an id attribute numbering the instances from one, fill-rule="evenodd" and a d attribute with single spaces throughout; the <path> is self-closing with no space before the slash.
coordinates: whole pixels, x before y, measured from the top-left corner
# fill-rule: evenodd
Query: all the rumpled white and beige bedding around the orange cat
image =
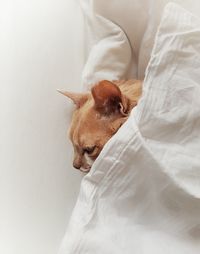
<path id="1" fill-rule="evenodd" d="M 59 254 L 197 254 L 200 5 L 80 3 L 88 35 L 83 90 L 133 76 L 144 87 L 83 178 Z"/>

